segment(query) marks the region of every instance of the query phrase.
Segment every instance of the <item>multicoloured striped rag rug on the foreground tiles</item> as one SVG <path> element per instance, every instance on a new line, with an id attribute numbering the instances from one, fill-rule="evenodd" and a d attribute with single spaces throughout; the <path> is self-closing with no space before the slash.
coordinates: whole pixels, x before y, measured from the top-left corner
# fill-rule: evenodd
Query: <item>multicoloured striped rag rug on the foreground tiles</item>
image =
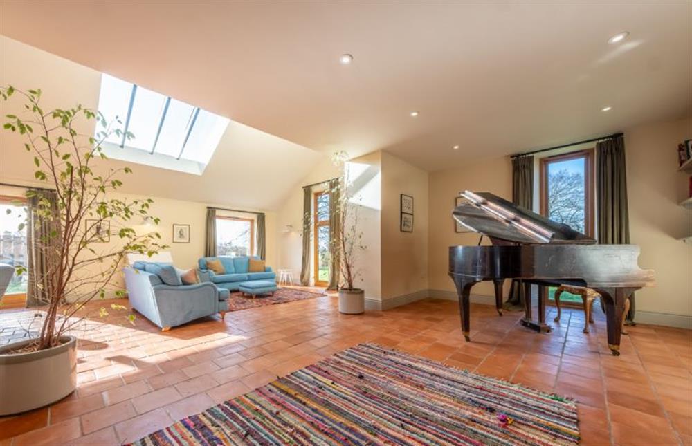
<path id="1" fill-rule="evenodd" d="M 135 445 L 572 445 L 576 404 L 361 344 Z"/>

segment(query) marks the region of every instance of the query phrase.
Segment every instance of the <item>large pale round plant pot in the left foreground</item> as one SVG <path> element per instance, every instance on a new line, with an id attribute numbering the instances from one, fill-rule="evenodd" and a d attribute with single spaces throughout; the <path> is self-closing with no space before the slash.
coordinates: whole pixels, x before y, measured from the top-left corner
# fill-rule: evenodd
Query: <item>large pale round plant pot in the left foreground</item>
<path id="1" fill-rule="evenodd" d="M 77 387 L 77 338 L 63 336 L 52 349 L 8 355 L 31 340 L 0 347 L 0 416 L 37 409 Z"/>

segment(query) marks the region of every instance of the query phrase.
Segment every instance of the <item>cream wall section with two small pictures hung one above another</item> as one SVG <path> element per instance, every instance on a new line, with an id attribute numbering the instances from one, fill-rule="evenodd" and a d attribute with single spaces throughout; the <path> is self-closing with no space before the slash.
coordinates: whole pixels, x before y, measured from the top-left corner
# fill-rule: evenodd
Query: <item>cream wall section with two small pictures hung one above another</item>
<path id="1" fill-rule="evenodd" d="M 401 194 L 413 197 L 413 232 L 401 232 Z M 428 289 L 428 172 L 382 152 L 382 300 Z"/>

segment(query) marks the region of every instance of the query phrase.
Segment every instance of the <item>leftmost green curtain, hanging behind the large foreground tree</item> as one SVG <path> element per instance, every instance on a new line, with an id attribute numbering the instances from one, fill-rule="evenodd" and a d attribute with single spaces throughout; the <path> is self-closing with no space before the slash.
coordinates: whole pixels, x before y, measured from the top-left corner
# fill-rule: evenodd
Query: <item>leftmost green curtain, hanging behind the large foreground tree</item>
<path id="1" fill-rule="evenodd" d="M 27 308 L 46 305 L 51 301 L 55 288 L 52 277 L 60 267 L 60 217 L 57 194 L 53 191 L 31 189 L 28 198 L 28 225 L 26 250 L 28 257 Z M 42 200 L 47 200 L 43 201 Z M 42 204 L 39 204 L 41 203 Z M 53 219 L 46 218 L 37 210 L 50 210 Z"/>

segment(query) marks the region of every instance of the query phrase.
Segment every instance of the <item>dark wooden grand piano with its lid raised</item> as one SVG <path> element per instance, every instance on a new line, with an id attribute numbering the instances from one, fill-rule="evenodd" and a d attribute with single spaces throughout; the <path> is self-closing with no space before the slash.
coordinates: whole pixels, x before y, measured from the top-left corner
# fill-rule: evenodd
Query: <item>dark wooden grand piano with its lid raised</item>
<path id="1" fill-rule="evenodd" d="M 518 207 L 489 192 L 462 192 L 466 203 L 453 211 L 462 226 L 489 237 L 492 245 L 450 246 L 449 275 L 459 296 L 466 341 L 470 341 L 469 296 L 480 281 L 493 281 L 495 306 L 502 315 L 504 279 L 525 286 L 522 325 L 549 331 L 545 324 L 547 286 L 585 286 L 599 292 L 605 305 L 608 347 L 620 354 L 626 299 L 635 290 L 653 286 L 653 270 L 637 265 L 637 245 L 597 245 L 581 232 Z M 531 284 L 538 285 L 538 322 L 531 316 Z"/>

